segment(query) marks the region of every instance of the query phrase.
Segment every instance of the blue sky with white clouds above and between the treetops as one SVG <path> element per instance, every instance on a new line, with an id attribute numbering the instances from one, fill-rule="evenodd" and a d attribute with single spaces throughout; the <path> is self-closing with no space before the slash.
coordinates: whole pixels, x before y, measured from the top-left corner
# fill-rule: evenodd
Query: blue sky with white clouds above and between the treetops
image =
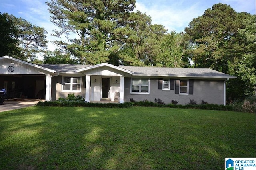
<path id="1" fill-rule="evenodd" d="M 56 40 L 50 36 L 54 26 L 49 18 L 47 0 L 0 0 L 0 12 L 13 14 L 15 17 L 24 18 L 33 25 L 44 27 L 48 32 L 47 40 Z M 50 1 L 50 0 L 49 0 Z M 142 13 L 151 16 L 152 24 L 162 24 L 168 32 L 175 30 L 181 32 L 193 18 L 202 16 L 204 11 L 213 4 L 228 4 L 236 12 L 256 14 L 255 0 L 136 0 L 136 8 Z M 48 43 L 48 49 L 54 50 L 55 46 Z"/>

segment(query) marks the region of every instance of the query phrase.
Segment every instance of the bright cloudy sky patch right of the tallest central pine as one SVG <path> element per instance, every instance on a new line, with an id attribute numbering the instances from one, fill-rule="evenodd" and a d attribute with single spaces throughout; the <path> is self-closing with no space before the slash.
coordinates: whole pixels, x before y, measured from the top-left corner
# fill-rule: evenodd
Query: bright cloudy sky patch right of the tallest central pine
<path id="1" fill-rule="evenodd" d="M 236 12 L 255 14 L 255 0 L 137 0 L 134 11 L 139 10 L 151 16 L 152 24 L 162 24 L 168 32 L 184 30 L 193 18 L 219 2 L 229 4 Z"/>

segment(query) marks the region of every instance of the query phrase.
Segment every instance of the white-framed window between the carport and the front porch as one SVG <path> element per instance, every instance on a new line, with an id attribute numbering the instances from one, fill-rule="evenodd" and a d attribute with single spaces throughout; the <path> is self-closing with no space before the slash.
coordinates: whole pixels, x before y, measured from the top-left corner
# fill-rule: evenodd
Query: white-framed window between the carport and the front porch
<path id="1" fill-rule="evenodd" d="M 62 91 L 81 91 L 81 77 L 63 76 Z"/>

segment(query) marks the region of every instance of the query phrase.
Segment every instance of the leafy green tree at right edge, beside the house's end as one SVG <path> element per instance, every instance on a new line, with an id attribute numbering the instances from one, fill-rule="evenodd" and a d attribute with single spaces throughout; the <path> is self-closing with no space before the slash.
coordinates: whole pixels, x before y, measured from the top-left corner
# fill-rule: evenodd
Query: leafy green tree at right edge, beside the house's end
<path id="1" fill-rule="evenodd" d="M 231 84 L 228 84 L 228 94 L 232 98 L 241 99 L 253 94 L 256 85 L 256 16 L 247 15 L 243 25 L 234 39 L 236 53 L 233 55 L 240 57 L 234 61 L 231 68 L 232 74 L 237 76 L 238 80 L 231 80 Z"/>

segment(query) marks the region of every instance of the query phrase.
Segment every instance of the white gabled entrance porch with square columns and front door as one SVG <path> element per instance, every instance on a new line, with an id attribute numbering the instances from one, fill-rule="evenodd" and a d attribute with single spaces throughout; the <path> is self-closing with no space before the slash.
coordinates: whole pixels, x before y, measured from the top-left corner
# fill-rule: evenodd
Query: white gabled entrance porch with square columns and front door
<path id="1" fill-rule="evenodd" d="M 86 102 L 114 101 L 118 97 L 119 102 L 123 103 L 124 76 L 133 74 L 132 71 L 108 63 L 81 68 L 76 72 L 86 75 Z"/>

